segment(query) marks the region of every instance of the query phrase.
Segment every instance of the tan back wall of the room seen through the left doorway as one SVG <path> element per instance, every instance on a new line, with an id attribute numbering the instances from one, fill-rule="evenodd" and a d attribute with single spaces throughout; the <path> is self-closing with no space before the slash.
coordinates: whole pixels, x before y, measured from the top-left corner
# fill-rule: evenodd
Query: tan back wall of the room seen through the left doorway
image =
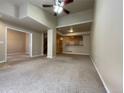
<path id="1" fill-rule="evenodd" d="M 25 52 L 26 50 L 26 33 L 14 31 L 11 29 L 7 30 L 7 52 Z"/>

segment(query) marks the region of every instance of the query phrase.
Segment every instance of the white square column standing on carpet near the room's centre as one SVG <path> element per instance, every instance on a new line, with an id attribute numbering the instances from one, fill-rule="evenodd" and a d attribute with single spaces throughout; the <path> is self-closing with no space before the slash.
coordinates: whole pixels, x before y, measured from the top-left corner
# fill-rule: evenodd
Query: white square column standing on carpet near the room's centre
<path id="1" fill-rule="evenodd" d="M 47 43 L 47 58 L 54 58 L 56 56 L 56 29 L 47 31 Z"/>

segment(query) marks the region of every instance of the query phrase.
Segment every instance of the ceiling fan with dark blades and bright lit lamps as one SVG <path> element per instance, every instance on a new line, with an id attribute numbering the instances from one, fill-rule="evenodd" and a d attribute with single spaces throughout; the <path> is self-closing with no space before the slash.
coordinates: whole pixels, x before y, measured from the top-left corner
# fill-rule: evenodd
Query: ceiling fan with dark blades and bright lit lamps
<path id="1" fill-rule="evenodd" d="M 53 5 L 44 4 L 43 7 L 45 7 L 45 8 L 53 7 L 53 9 L 54 9 L 54 16 L 57 16 L 57 15 L 61 14 L 63 11 L 66 14 L 70 14 L 70 11 L 65 9 L 64 6 L 69 4 L 69 3 L 72 3 L 73 1 L 74 0 L 54 0 L 54 4 Z"/>

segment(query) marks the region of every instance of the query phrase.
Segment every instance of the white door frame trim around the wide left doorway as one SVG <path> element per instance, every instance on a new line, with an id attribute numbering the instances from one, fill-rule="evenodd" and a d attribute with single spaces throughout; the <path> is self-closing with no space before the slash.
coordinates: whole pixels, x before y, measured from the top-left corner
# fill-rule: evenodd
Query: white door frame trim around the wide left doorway
<path id="1" fill-rule="evenodd" d="M 8 29 L 12 29 L 17 32 L 24 32 L 24 33 L 29 34 L 29 55 L 30 55 L 30 57 L 32 57 L 32 38 L 33 38 L 32 33 L 29 31 L 26 31 L 26 30 L 19 29 L 19 28 L 6 26 L 6 28 L 5 28 L 5 62 L 7 62 L 7 42 L 8 42 L 7 41 L 7 31 L 8 31 Z"/>

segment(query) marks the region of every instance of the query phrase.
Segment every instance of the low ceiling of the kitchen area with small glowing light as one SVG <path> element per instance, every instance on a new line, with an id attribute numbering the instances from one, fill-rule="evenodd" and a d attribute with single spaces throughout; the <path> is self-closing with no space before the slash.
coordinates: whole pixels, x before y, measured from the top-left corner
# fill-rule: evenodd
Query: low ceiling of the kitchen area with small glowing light
<path id="1" fill-rule="evenodd" d="M 77 33 L 77 32 L 87 32 L 91 30 L 92 22 L 73 25 L 73 26 L 66 26 L 57 28 L 57 31 L 62 34 L 68 34 L 68 33 Z M 70 29 L 73 29 L 73 32 L 70 32 Z"/>

